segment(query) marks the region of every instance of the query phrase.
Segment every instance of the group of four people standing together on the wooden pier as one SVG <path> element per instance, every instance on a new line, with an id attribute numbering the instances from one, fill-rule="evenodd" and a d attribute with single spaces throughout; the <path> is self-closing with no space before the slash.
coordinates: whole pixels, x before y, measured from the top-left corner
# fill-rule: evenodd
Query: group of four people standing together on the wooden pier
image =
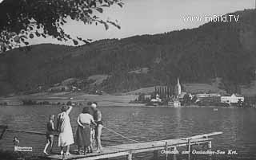
<path id="1" fill-rule="evenodd" d="M 43 150 L 47 153 L 47 148 L 50 146 L 50 153 L 52 152 L 54 133 L 58 132 L 58 146 L 61 147 L 61 153 L 64 154 L 64 147 L 66 147 L 66 155 L 70 155 L 70 145 L 76 143 L 78 145 L 78 154 L 82 154 L 81 147 L 84 147 L 84 154 L 93 152 L 93 143 L 96 141 L 97 152 L 102 152 L 102 112 L 98 110 L 97 103 L 87 103 L 87 107 L 82 109 L 82 113 L 78 115 L 78 127 L 73 136 L 73 131 L 70 123 L 70 111 L 72 105 L 62 106 L 61 113 L 57 116 L 57 126 L 54 127 L 54 115 L 50 115 L 47 123 L 46 139 L 47 143 Z"/>

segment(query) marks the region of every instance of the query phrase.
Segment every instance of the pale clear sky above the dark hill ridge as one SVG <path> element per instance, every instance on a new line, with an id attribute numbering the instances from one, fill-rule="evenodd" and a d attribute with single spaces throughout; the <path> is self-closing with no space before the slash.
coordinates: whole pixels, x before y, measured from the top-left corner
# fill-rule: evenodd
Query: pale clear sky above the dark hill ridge
<path id="1" fill-rule="evenodd" d="M 205 21 L 184 21 L 187 16 L 222 15 L 255 7 L 255 0 L 122 0 L 122 2 L 125 3 L 122 8 L 113 6 L 104 10 L 102 14 L 103 19 L 117 20 L 121 29 L 110 26 L 110 29 L 106 30 L 103 25 L 84 25 L 82 21 L 68 20 L 64 26 L 66 33 L 94 41 L 165 33 L 196 28 L 205 23 Z M 71 41 L 63 43 L 52 38 L 38 38 L 30 42 L 31 45 L 40 43 L 72 45 Z"/>

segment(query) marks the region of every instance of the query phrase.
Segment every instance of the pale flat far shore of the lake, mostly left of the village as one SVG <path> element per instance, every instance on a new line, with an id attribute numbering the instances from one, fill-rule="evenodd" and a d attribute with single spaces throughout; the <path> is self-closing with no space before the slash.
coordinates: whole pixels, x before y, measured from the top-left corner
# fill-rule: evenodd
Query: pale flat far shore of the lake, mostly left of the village
<path id="1" fill-rule="evenodd" d="M 70 100 L 70 98 L 72 98 Z M 146 106 L 146 103 L 130 103 L 137 99 L 137 95 L 92 95 L 83 92 L 58 92 L 49 93 L 42 92 L 31 95 L 13 96 L 13 97 L 0 97 L 0 104 L 2 106 L 23 106 L 23 105 L 63 105 L 68 101 L 77 103 L 79 106 L 86 106 L 87 102 L 98 102 L 100 107 L 170 107 L 170 106 Z M 24 100 L 30 101 L 30 103 L 24 104 Z M 221 107 L 221 106 L 198 106 L 187 105 L 178 108 L 239 108 L 239 107 Z M 171 107 L 175 108 L 175 107 Z"/>

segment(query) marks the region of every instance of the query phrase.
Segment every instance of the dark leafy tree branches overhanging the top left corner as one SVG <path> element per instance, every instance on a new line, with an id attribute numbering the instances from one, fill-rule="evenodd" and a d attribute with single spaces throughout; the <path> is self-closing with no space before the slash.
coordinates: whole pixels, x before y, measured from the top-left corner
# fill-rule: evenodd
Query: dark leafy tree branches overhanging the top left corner
<path id="1" fill-rule="evenodd" d="M 0 2 L 0 53 L 14 47 L 29 45 L 29 38 L 51 36 L 58 41 L 78 41 L 90 43 L 90 39 L 71 37 L 62 26 L 70 17 L 83 21 L 85 25 L 102 24 L 106 29 L 114 25 L 102 20 L 96 14 L 102 14 L 104 7 L 123 6 L 122 0 L 4 0 Z M 98 12 L 98 13 L 97 13 Z"/>

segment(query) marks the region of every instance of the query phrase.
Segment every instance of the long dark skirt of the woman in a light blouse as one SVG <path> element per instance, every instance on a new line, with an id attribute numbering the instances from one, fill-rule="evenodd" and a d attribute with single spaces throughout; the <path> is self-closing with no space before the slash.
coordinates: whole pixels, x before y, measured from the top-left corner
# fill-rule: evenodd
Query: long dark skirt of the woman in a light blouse
<path id="1" fill-rule="evenodd" d="M 90 125 L 88 124 L 82 124 L 85 126 L 85 128 L 82 128 L 81 126 L 78 126 L 77 132 L 76 132 L 76 138 L 75 143 L 78 146 L 90 146 Z"/>

